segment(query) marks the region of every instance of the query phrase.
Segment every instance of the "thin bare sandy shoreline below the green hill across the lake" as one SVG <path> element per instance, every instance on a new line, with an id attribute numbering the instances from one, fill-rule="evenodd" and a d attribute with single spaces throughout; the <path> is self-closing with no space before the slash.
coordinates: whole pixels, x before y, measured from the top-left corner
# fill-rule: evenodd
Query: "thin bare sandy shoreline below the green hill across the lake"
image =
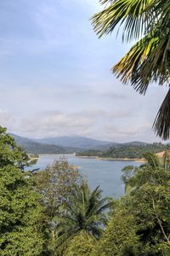
<path id="1" fill-rule="evenodd" d="M 113 161 L 134 161 L 134 162 L 145 162 L 144 158 L 112 158 L 112 157 L 99 157 L 99 156 L 88 156 L 88 155 L 77 155 L 79 158 L 84 159 L 96 159 L 96 160 L 113 160 Z"/>

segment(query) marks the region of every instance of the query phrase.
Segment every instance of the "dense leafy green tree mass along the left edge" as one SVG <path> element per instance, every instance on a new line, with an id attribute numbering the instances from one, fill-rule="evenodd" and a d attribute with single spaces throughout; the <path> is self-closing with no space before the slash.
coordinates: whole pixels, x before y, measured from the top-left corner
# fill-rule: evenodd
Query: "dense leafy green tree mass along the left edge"
<path id="1" fill-rule="evenodd" d="M 42 206 L 28 155 L 0 127 L 0 254 L 40 255 Z"/>

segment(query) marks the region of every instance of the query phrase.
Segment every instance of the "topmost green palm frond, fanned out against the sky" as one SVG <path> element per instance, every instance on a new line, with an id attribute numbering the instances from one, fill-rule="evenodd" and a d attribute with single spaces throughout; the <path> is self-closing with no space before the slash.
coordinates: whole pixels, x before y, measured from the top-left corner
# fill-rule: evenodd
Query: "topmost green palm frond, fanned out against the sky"
<path id="1" fill-rule="evenodd" d="M 148 9 L 152 2 L 153 0 L 110 1 L 110 5 L 104 11 L 92 18 L 94 31 L 100 38 L 104 34 L 113 32 L 117 25 L 123 25 L 122 40 L 137 39 L 146 30 L 152 18 L 152 12 Z M 101 1 L 101 3 L 109 3 L 109 1 Z"/>

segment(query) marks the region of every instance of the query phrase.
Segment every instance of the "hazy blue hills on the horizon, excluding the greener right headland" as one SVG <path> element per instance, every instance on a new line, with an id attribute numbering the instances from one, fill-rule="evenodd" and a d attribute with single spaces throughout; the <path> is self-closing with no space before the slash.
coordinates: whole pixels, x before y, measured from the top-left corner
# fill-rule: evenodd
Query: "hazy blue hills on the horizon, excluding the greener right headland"
<path id="1" fill-rule="evenodd" d="M 100 141 L 88 137 L 50 137 L 42 139 L 20 137 L 13 133 L 16 143 L 26 148 L 27 153 L 37 154 L 69 154 L 81 152 L 88 149 L 107 150 L 111 147 L 121 147 L 122 145 L 144 145 L 147 143 L 115 143 Z"/>

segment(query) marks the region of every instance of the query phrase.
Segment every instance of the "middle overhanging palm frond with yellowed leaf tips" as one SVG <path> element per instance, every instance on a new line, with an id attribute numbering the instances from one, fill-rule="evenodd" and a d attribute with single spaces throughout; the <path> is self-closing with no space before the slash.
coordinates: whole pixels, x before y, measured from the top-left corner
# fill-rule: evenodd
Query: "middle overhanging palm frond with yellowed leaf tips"
<path id="1" fill-rule="evenodd" d="M 154 34 L 154 36 L 153 36 Z M 150 32 L 133 45 L 113 68 L 122 83 L 131 83 L 134 90 L 145 94 L 150 82 L 163 84 L 170 79 L 170 36 L 167 32 Z"/>

